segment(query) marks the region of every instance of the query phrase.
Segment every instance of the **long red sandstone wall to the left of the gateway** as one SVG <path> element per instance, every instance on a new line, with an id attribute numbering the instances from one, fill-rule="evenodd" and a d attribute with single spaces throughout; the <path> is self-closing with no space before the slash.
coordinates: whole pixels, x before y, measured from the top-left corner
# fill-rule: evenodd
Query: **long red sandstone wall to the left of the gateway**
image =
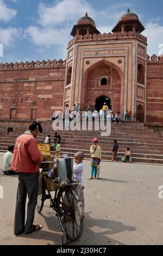
<path id="1" fill-rule="evenodd" d="M 53 109 L 62 111 L 65 70 L 62 60 L 1 63 L 0 118 L 48 120 Z"/>

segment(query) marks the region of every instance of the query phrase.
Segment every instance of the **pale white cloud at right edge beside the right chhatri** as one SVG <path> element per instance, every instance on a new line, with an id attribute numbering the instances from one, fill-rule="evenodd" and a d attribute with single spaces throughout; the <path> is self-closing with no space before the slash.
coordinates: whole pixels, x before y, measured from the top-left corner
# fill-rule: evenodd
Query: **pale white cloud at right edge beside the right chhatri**
<path id="1" fill-rule="evenodd" d="M 147 36 L 148 47 L 147 52 L 149 56 L 153 54 L 159 55 L 159 45 L 163 44 L 163 26 L 159 23 L 148 22 L 145 26 L 146 30 L 142 34 Z"/>

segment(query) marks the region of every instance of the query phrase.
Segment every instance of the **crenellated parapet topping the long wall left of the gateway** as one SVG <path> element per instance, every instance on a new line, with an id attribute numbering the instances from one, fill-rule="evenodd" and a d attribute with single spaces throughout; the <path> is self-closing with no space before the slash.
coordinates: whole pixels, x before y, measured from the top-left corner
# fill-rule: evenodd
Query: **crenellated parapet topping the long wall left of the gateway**
<path id="1" fill-rule="evenodd" d="M 40 62 L 37 60 L 36 62 L 16 62 L 14 63 L 1 63 L 0 64 L 0 70 L 17 70 L 17 69 L 41 69 L 41 68 L 65 68 L 66 67 L 66 60 L 56 60 L 53 61 L 48 60 L 47 62 L 45 60 L 42 60 Z"/>

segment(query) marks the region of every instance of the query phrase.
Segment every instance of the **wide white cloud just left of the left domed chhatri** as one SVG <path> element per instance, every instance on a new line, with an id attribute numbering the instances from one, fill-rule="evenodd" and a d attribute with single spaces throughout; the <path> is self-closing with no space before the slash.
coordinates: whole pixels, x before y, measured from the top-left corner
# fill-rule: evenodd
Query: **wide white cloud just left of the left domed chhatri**
<path id="1" fill-rule="evenodd" d="M 47 47 L 52 45 L 67 45 L 69 31 L 67 28 L 64 29 L 51 29 L 30 26 L 25 31 L 25 36 L 34 42 L 35 45 L 45 45 Z"/>

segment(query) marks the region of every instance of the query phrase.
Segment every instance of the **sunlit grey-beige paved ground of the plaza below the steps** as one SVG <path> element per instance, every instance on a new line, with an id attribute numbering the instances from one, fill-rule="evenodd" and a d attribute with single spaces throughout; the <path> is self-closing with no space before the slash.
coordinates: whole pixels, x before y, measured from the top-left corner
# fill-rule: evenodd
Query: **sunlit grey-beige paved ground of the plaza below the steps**
<path id="1" fill-rule="evenodd" d="M 0 153 L 0 169 L 3 154 Z M 158 187 L 163 185 L 162 166 L 130 163 L 101 164 L 99 180 L 88 180 L 89 161 L 84 161 L 85 219 L 80 241 L 74 245 L 161 245 L 162 206 Z M 48 202 L 35 222 L 42 230 L 13 234 L 17 176 L 0 172 L 4 199 L 0 199 L 0 245 L 61 245 L 58 218 Z"/>

